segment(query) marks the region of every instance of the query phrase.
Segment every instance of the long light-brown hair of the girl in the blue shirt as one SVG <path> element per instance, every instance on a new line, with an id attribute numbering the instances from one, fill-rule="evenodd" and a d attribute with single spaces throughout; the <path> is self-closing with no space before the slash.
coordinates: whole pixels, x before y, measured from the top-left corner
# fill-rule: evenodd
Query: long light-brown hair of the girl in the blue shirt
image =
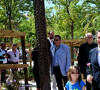
<path id="1" fill-rule="evenodd" d="M 72 78 L 71 78 L 71 73 L 74 71 L 74 70 L 77 70 L 78 73 L 79 73 L 79 77 L 78 77 L 78 80 L 79 82 L 82 80 L 81 78 L 81 74 L 80 74 L 80 69 L 77 67 L 77 66 L 70 66 L 69 69 L 68 69 L 68 79 L 69 81 L 72 81 Z"/>

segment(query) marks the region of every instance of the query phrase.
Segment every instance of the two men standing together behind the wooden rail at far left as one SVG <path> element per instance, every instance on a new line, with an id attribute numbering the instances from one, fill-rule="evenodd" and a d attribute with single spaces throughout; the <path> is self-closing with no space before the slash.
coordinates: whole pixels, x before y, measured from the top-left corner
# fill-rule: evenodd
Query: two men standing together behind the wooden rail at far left
<path id="1" fill-rule="evenodd" d="M 12 44 L 12 48 L 10 50 L 6 49 L 6 44 L 1 42 L 0 44 L 0 64 L 18 64 L 19 63 L 19 51 L 17 50 L 17 45 Z M 17 69 L 12 69 L 12 73 L 14 73 Z M 4 83 L 6 75 L 6 70 L 1 71 L 1 82 Z"/>

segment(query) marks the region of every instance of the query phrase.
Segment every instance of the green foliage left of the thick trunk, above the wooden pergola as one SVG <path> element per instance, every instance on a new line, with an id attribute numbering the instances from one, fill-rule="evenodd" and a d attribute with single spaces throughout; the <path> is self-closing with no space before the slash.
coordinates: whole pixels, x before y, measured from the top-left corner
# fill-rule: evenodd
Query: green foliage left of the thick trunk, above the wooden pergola
<path id="1" fill-rule="evenodd" d="M 26 32 L 26 43 L 36 43 L 35 23 L 32 12 L 33 0 L 0 1 L 0 29 L 9 30 L 9 15 L 11 13 L 12 30 Z M 14 39 L 14 42 L 18 43 L 20 40 Z"/>

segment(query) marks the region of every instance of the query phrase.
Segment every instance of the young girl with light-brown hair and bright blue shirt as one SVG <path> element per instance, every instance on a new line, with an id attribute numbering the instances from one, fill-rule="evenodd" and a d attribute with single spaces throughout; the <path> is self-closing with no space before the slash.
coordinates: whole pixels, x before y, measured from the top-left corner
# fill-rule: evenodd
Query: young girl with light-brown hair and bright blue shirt
<path id="1" fill-rule="evenodd" d="M 77 66 L 70 66 L 68 70 L 69 81 L 66 83 L 66 90 L 85 90 L 85 83 L 81 79 L 80 70 Z"/>

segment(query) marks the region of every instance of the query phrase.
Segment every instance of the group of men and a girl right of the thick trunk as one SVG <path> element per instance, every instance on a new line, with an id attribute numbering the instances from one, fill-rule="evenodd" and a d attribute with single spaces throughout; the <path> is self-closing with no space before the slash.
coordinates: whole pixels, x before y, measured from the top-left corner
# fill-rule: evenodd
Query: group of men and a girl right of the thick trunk
<path id="1" fill-rule="evenodd" d="M 100 30 L 97 31 L 97 44 L 93 42 L 92 33 L 86 34 L 86 43 L 81 44 L 79 47 L 78 66 L 71 65 L 70 48 L 61 43 L 61 37 L 59 35 L 54 36 L 53 31 L 50 31 L 48 36 L 51 44 L 50 76 L 53 89 L 57 90 L 57 84 L 58 90 L 64 90 L 64 88 L 66 90 L 99 90 Z M 81 74 L 84 75 L 86 83 L 82 80 Z M 40 86 L 37 87 L 37 90 L 41 90 Z"/>

